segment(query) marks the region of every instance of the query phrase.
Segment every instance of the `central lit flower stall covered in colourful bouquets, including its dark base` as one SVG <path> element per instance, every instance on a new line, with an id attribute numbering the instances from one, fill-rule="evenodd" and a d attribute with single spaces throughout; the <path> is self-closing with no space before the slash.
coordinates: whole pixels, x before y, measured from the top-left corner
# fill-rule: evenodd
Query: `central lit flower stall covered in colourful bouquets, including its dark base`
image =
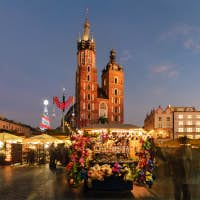
<path id="1" fill-rule="evenodd" d="M 139 142 L 130 146 L 134 137 Z M 85 188 L 91 190 L 132 190 L 133 182 L 152 185 L 155 154 L 152 138 L 109 129 L 85 131 L 71 139 L 71 160 L 66 166 L 71 186 L 83 180 Z M 131 148 L 136 151 L 134 156 Z"/>

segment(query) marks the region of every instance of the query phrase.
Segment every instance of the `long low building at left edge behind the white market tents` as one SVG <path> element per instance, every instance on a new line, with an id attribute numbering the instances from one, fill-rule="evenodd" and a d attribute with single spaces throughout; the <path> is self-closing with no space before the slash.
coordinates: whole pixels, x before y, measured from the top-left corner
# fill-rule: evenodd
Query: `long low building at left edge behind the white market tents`
<path id="1" fill-rule="evenodd" d="M 0 117 L 0 130 L 9 131 L 18 136 L 30 136 L 31 127 L 25 124 L 14 122 L 13 120 L 8 120 L 4 117 Z"/>

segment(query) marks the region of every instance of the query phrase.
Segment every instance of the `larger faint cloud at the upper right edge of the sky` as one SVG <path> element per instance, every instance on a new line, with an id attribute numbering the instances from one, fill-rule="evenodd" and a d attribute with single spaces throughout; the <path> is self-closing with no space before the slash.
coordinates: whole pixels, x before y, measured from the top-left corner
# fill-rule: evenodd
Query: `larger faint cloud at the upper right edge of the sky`
<path id="1" fill-rule="evenodd" d="M 163 33 L 160 41 L 173 39 L 179 41 L 185 49 L 200 52 L 200 27 L 182 24 Z"/>

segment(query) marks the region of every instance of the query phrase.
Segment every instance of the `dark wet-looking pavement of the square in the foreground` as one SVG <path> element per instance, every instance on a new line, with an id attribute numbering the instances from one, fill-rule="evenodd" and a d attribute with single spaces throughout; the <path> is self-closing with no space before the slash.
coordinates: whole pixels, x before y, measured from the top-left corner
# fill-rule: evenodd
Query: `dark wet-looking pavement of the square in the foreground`
<path id="1" fill-rule="evenodd" d="M 163 181 L 161 181 L 163 180 Z M 193 191 L 197 198 L 198 188 Z M 195 193 L 196 192 L 196 193 Z M 170 179 L 158 179 L 151 189 L 133 186 L 130 192 L 84 192 L 82 188 L 70 189 L 63 167 L 50 170 L 48 165 L 0 166 L 0 199 L 3 200 L 62 200 L 62 199 L 173 199 Z"/>

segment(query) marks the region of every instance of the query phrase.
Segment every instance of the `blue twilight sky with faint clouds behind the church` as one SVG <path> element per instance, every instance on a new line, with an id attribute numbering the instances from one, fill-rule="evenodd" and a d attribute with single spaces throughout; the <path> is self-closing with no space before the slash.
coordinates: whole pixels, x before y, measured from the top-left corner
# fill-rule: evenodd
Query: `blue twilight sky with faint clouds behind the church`
<path id="1" fill-rule="evenodd" d="M 86 7 L 99 73 L 114 48 L 125 70 L 125 123 L 168 104 L 200 107 L 200 1 L 0 1 L 0 115 L 38 126 L 43 100 L 74 95 Z M 99 81 L 100 84 L 100 81 Z M 60 123 L 56 110 L 52 126 Z"/>

